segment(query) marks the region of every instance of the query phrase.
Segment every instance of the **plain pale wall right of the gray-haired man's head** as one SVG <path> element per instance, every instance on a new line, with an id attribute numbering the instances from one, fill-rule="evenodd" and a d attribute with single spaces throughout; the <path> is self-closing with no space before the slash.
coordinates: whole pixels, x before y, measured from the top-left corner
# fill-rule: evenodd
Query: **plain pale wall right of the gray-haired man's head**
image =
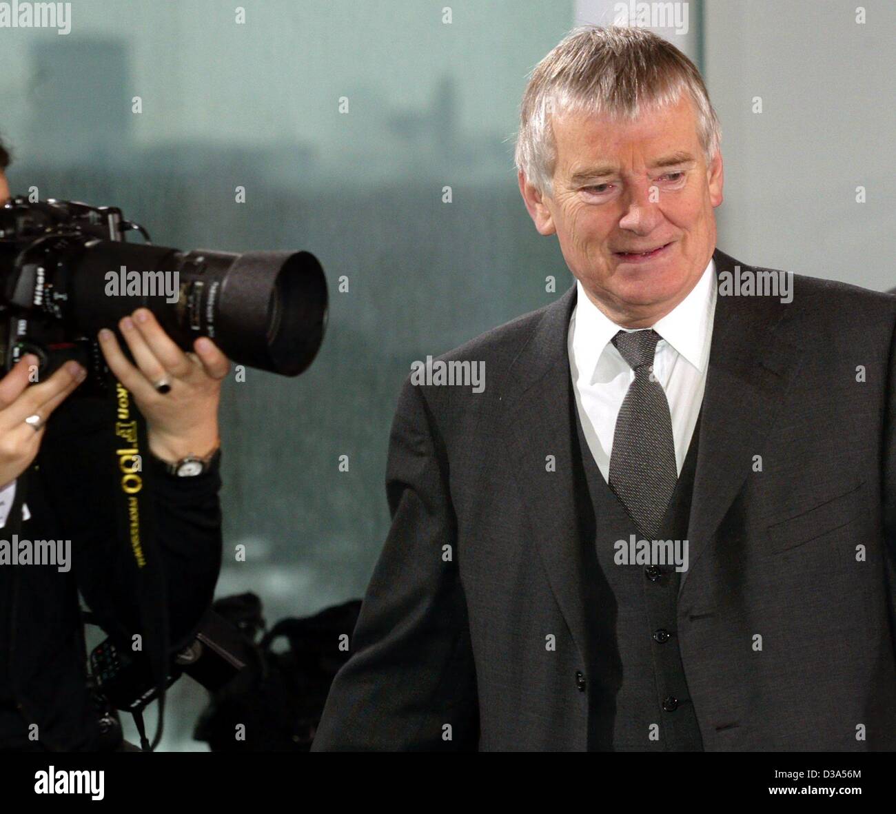
<path id="1" fill-rule="evenodd" d="M 719 247 L 889 290 L 896 4 L 862 5 L 865 24 L 852 0 L 706 0 L 704 73 L 725 159 Z"/>

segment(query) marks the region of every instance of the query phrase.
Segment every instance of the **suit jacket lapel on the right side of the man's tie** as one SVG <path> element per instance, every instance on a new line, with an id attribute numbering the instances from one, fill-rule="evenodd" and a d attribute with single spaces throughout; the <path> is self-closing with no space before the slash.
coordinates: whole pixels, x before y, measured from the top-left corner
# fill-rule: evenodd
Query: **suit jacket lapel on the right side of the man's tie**
<path id="1" fill-rule="evenodd" d="M 713 259 L 717 279 L 720 273 L 734 273 L 736 265 L 749 268 L 719 250 Z M 716 300 L 688 524 L 690 562 L 679 593 L 752 472 L 753 456 L 783 401 L 782 390 L 796 373 L 798 349 L 776 333 L 786 310 L 772 297 L 719 294 Z"/>

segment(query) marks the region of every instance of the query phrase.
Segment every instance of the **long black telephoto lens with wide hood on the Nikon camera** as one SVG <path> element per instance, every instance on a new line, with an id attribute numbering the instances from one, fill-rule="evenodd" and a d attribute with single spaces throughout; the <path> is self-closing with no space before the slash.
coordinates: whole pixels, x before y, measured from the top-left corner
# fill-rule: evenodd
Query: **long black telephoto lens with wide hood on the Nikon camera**
<path id="1" fill-rule="evenodd" d="M 177 301 L 145 292 L 106 296 L 107 274 L 118 269 L 176 279 Z M 323 342 L 327 283 L 309 252 L 179 252 L 96 240 L 73 259 L 68 278 L 65 310 L 87 335 L 147 307 L 184 350 L 208 336 L 238 364 L 283 376 L 306 370 Z"/>

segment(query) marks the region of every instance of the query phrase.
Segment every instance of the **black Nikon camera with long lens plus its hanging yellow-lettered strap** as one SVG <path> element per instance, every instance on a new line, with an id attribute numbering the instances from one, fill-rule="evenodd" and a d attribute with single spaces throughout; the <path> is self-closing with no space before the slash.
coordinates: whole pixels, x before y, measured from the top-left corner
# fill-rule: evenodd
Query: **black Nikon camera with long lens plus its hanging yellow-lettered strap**
<path id="1" fill-rule="evenodd" d="M 45 379 L 76 359 L 88 371 L 78 394 L 108 403 L 99 455 L 108 461 L 118 537 L 133 555 L 126 567 L 149 671 L 142 679 L 151 681 L 150 696 L 159 702 L 155 737 L 150 742 L 141 733 L 143 748 L 151 750 L 162 736 L 172 654 L 152 529 L 151 468 L 142 467 L 146 422 L 108 370 L 96 334 L 116 329 L 121 317 L 143 306 L 184 350 L 208 336 L 237 364 L 297 376 L 323 341 L 327 287 L 308 252 L 181 252 L 127 243 L 132 230 L 149 241 L 146 230 L 125 221 L 116 207 L 22 197 L 0 207 L 0 362 L 9 369 L 34 353 Z"/>

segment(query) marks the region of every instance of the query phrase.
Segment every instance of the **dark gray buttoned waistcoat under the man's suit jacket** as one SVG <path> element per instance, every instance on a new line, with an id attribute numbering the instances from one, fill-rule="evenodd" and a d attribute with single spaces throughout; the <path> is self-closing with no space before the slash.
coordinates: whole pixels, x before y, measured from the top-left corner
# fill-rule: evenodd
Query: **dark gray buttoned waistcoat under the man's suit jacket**
<path id="1" fill-rule="evenodd" d="M 581 462 L 576 507 L 583 540 L 597 555 L 598 607 L 592 635 L 598 663 L 591 665 L 590 748 L 701 751 L 702 739 L 685 680 L 676 636 L 680 574 L 674 565 L 619 565 L 616 541 L 642 539 L 632 518 L 604 481 L 573 415 Z M 662 540 L 685 540 L 694 491 L 700 419 L 669 502 Z M 596 706 L 595 706 L 596 705 Z"/>

